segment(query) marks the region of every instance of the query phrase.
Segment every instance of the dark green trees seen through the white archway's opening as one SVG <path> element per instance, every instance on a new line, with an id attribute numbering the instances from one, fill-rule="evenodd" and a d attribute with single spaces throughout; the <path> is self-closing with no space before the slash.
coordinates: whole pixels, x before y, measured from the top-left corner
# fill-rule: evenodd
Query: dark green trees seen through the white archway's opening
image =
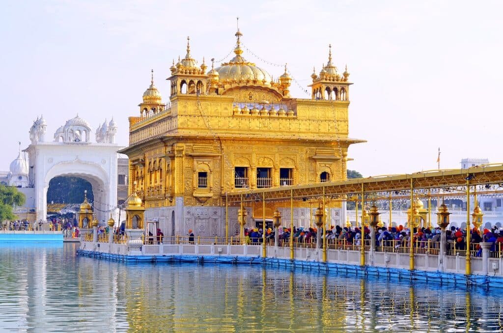
<path id="1" fill-rule="evenodd" d="M 85 179 L 77 177 L 54 177 L 49 182 L 47 203 L 79 204 L 84 200 L 84 191 L 88 191 L 88 200 L 94 201 L 93 187 Z"/>

